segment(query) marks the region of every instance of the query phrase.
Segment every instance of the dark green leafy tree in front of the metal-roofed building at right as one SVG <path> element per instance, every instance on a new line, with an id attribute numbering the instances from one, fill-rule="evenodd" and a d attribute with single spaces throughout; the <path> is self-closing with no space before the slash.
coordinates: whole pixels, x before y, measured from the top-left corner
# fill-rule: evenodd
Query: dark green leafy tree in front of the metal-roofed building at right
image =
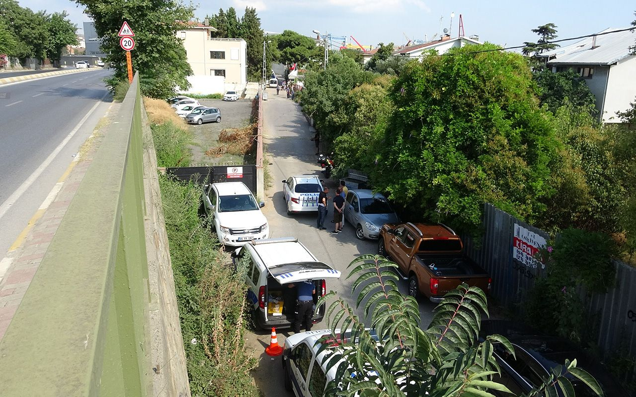
<path id="1" fill-rule="evenodd" d="M 539 86 L 541 105 L 548 106 L 551 112 L 555 113 L 563 105 L 571 104 L 588 109 L 592 116 L 597 113 L 595 97 L 588 84 L 572 69 L 556 73 L 549 69 L 535 71 L 534 80 Z"/>

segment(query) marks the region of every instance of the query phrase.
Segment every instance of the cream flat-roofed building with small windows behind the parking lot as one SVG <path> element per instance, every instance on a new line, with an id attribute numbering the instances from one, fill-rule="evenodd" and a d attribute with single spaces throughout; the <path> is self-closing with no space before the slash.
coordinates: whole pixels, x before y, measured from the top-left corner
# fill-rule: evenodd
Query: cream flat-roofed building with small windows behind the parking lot
<path id="1" fill-rule="evenodd" d="M 193 76 L 188 77 L 193 85 L 190 92 L 221 93 L 226 89 L 244 89 L 247 84 L 247 43 L 244 39 L 214 38 L 211 32 L 216 29 L 198 22 L 187 22 L 177 32 L 193 71 Z M 201 84 L 207 88 L 198 90 Z"/>

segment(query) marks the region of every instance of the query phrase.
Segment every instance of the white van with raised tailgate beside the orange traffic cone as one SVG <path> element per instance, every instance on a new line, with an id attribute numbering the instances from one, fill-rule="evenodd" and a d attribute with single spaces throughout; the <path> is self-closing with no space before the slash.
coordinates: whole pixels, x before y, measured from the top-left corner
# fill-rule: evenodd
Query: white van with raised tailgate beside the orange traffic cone
<path id="1" fill-rule="evenodd" d="M 249 241 L 232 253 L 232 261 L 236 265 L 245 256 L 249 257 L 247 299 L 252 303 L 256 325 L 263 329 L 293 324 L 298 293 L 296 286 L 289 288 L 289 284 L 312 280 L 315 304 L 327 292 L 325 279 L 340 277 L 339 271 L 316 259 L 296 238 Z M 324 312 L 323 305 L 312 321 L 321 321 Z"/>

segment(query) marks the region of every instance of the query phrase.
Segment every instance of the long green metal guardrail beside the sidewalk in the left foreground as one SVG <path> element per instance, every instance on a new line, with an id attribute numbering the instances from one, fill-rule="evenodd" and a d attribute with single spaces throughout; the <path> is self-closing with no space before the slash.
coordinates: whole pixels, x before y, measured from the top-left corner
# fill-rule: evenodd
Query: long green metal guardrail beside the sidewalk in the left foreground
<path id="1" fill-rule="evenodd" d="M 2 396 L 151 393 L 139 77 L 0 342 Z"/>

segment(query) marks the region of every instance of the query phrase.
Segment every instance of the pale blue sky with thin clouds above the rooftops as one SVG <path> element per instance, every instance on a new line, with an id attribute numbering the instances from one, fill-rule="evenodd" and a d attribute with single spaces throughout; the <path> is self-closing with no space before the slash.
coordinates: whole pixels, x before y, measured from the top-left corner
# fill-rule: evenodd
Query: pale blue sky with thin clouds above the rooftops
<path id="1" fill-rule="evenodd" d="M 66 10 L 72 22 L 81 29 L 90 19 L 83 8 L 69 0 L 18 0 L 20 6 L 50 13 Z M 378 43 L 405 44 L 410 39 L 429 39 L 449 29 L 458 36 L 459 15 L 466 36 L 478 35 L 480 41 L 518 46 L 536 41 L 530 32 L 539 25 L 557 25 L 558 38 L 583 36 L 607 28 L 628 27 L 636 19 L 636 4 L 627 0 L 553 1 L 425 1 L 425 0 L 221 0 L 195 1 L 195 17 L 234 7 L 243 14 L 245 6 L 256 8 L 261 27 L 270 32 L 295 30 L 313 36 L 312 30 L 329 32 L 333 36 L 356 37 L 364 45 Z M 451 21 L 451 13 L 455 17 Z M 440 23 L 440 18 L 441 23 Z M 441 26 L 441 29 L 440 29 Z M 132 27 L 134 30 L 134 27 Z M 79 30 L 79 33 L 82 31 Z M 636 33 L 635 33 L 636 37 Z M 565 42 L 562 45 L 571 44 Z"/>

